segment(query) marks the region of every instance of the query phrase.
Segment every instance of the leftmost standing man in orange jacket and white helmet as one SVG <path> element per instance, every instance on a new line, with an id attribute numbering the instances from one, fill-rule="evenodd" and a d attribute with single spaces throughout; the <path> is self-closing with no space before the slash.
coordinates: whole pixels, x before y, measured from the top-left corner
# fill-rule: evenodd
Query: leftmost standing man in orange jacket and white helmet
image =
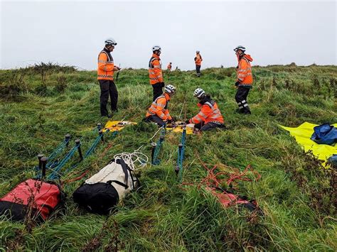
<path id="1" fill-rule="evenodd" d="M 97 67 L 97 80 L 100 82 L 100 111 L 101 116 L 109 116 L 107 111 L 107 102 L 109 95 L 111 99 L 112 112 L 117 111 L 118 92 L 117 87 L 114 84 L 114 71 L 120 70 L 119 67 L 114 65 L 114 59 L 111 52 L 114 50 L 114 46 L 117 45 L 113 38 L 107 38 L 105 40 L 105 48 L 98 55 L 98 67 Z"/>

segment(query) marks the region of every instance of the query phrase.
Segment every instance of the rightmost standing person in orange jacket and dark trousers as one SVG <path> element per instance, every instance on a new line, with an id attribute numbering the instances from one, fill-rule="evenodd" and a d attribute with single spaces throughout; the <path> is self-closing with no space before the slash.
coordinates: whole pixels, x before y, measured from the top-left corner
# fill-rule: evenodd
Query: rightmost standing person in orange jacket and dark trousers
<path id="1" fill-rule="evenodd" d="M 237 106 L 239 106 L 238 112 L 241 114 L 251 114 L 250 107 L 247 103 L 247 96 L 252 88 L 252 67 L 250 62 L 252 62 L 252 57 L 245 54 L 246 48 L 242 45 L 237 46 L 234 49 L 237 55 L 237 82 L 235 86 L 237 87 L 237 92 L 235 94 L 235 100 Z"/>

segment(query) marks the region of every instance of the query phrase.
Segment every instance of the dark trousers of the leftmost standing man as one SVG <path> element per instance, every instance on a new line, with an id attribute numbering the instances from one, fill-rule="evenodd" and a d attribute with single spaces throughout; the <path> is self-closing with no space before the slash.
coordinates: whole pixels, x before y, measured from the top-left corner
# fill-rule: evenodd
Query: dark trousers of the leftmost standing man
<path id="1" fill-rule="evenodd" d="M 101 96 L 100 96 L 100 106 L 101 106 L 101 116 L 108 116 L 107 102 L 111 100 L 111 110 L 117 111 L 118 102 L 118 92 L 117 87 L 113 80 L 98 80 L 100 82 Z"/>

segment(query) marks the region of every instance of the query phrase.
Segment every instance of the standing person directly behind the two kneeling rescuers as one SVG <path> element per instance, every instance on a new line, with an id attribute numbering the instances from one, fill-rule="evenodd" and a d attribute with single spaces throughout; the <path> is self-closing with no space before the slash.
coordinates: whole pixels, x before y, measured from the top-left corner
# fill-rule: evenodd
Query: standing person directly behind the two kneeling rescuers
<path id="1" fill-rule="evenodd" d="M 161 94 L 163 94 L 163 87 L 164 79 L 163 79 L 163 72 L 161 71 L 161 47 L 159 45 L 154 45 L 152 47 L 152 57 L 149 61 L 149 79 L 150 84 L 153 87 L 154 92 L 154 98 L 153 101 L 159 97 Z"/>

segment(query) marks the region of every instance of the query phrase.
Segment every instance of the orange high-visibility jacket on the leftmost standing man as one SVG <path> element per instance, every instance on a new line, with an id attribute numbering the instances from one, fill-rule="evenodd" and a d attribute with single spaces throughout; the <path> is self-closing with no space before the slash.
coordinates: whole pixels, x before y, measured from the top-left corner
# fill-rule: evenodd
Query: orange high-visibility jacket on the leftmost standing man
<path id="1" fill-rule="evenodd" d="M 98 55 L 97 80 L 114 80 L 114 59 L 107 48 Z"/>

